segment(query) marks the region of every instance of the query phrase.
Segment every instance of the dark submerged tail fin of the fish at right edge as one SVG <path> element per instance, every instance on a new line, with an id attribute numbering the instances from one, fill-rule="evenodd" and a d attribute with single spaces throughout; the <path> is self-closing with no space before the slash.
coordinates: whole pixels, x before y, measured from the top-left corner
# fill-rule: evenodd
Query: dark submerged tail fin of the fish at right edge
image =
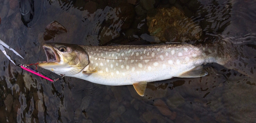
<path id="1" fill-rule="evenodd" d="M 220 63 L 225 68 L 236 70 L 241 74 L 256 77 L 256 37 L 250 41 L 235 41 L 234 38 L 224 38 L 219 54 L 228 59 Z M 238 43 L 239 42 L 239 43 Z"/>

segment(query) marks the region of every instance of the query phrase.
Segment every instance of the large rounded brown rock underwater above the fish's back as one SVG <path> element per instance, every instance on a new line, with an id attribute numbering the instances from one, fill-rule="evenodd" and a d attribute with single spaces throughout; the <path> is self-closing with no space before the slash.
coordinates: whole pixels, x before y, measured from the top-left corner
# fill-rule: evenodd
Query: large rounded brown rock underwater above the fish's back
<path id="1" fill-rule="evenodd" d="M 198 40 L 202 34 L 201 27 L 175 7 L 148 11 L 146 19 L 150 35 L 162 42 Z"/>

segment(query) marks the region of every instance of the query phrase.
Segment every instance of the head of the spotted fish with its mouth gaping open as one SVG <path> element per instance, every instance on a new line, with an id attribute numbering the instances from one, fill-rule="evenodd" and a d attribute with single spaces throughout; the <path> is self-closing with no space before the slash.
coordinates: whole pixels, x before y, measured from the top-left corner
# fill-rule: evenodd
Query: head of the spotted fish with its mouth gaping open
<path id="1" fill-rule="evenodd" d="M 46 43 L 42 47 L 47 61 L 38 66 L 56 74 L 71 76 L 81 72 L 89 64 L 87 52 L 78 45 Z"/>

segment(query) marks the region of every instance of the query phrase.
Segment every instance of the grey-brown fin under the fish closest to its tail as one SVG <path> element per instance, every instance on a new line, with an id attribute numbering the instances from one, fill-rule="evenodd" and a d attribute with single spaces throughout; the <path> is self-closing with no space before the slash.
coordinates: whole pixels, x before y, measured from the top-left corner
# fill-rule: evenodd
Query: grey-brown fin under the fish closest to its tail
<path id="1" fill-rule="evenodd" d="M 181 78 L 196 78 L 206 76 L 208 73 L 203 69 L 202 66 L 198 66 L 190 71 L 182 73 L 179 77 Z"/>

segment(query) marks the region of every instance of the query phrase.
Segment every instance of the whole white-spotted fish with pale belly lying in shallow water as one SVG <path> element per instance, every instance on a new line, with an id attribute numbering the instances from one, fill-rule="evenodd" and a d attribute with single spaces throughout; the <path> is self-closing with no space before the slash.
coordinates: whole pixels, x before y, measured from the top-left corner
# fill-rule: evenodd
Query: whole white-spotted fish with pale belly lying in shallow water
<path id="1" fill-rule="evenodd" d="M 225 43 L 223 43 L 226 45 Z M 203 65 L 224 65 L 230 59 L 223 44 L 83 46 L 45 43 L 47 61 L 39 67 L 103 85 L 133 85 L 144 96 L 148 82 L 173 77 L 203 77 Z"/>

